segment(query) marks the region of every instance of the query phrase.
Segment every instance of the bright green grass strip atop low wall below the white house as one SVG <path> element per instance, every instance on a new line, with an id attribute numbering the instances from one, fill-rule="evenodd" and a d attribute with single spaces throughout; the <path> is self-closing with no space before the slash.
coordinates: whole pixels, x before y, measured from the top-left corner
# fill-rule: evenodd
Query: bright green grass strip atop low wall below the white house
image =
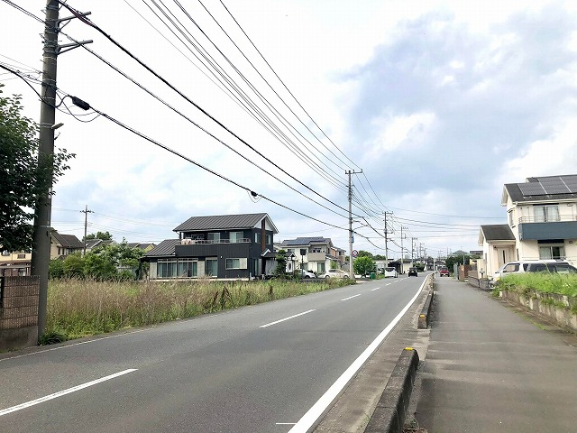
<path id="1" fill-rule="evenodd" d="M 577 297 L 577 275 L 567 273 L 527 272 L 508 275 L 499 280 L 497 290 L 528 293 L 536 290 Z"/>

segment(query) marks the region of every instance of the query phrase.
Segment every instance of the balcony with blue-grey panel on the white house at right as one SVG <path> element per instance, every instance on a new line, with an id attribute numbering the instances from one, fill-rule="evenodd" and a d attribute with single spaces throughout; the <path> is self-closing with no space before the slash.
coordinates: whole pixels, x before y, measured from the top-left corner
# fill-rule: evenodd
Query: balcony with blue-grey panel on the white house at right
<path id="1" fill-rule="evenodd" d="M 521 217 L 519 240 L 577 239 L 577 217 Z"/>

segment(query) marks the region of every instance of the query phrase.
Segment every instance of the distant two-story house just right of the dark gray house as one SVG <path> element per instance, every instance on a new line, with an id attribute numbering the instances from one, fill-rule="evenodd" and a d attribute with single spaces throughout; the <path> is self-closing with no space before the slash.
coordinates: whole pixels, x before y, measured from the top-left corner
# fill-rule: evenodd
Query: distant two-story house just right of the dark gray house
<path id="1" fill-rule="evenodd" d="M 322 236 L 287 239 L 282 241 L 280 248 L 295 254 L 298 268 L 311 272 L 326 272 L 331 269 L 331 262 L 339 266 L 344 263 L 344 250 L 336 248 L 330 238 Z"/>

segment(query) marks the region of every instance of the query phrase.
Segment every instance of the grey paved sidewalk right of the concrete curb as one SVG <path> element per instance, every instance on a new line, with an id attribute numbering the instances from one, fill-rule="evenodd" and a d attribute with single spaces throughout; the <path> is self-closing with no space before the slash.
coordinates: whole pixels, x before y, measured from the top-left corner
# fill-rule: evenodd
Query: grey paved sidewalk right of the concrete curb
<path id="1" fill-rule="evenodd" d="M 490 293 L 436 279 L 415 418 L 428 433 L 576 432 L 577 347 Z M 575 341 L 575 338 L 572 339 Z"/>

